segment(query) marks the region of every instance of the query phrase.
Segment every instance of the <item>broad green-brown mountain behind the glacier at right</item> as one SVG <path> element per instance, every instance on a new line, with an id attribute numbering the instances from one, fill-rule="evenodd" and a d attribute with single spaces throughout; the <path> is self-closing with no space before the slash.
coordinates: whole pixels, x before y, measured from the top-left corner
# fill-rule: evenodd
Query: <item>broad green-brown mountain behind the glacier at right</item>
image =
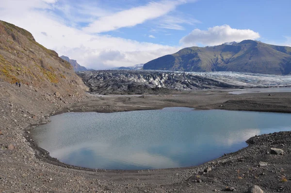
<path id="1" fill-rule="evenodd" d="M 144 64 L 144 70 L 233 71 L 291 74 L 291 47 L 243 40 L 212 47 L 191 47 Z"/>

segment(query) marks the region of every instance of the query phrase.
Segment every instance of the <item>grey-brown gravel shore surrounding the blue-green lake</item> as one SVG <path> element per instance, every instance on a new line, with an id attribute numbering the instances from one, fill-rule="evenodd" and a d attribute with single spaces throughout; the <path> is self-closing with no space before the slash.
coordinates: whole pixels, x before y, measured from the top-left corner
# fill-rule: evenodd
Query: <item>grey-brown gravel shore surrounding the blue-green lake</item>
<path id="1" fill-rule="evenodd" d="M 11 105 L 11 101 L 2 99 L 0 192 L 209 193 L 222 191 L 226 187 L 245 192 L 249 186 L 257 184 L 265 192 L 289 193 L 291 132 L 255 137 L 248 147 L 200 166 L 146 171 L 86 170 L 68 166 L 51 159 L 45 150 L 35 146 L 29 133 L 35 125 L 48 122 L 49 115 L 67 111 L 120 112 L 179 106 L 204 110 L 291 113 L 291 93 L 271 95 L 229 95 L 214 90 L 178 96 L 88 96 L 75 103 L 58 103 L 53 108 L 50 105 L 35 105 L 29 113 L 24 108 L 32 107 L 16 103 Z M 266 154 L 271 147 L 283 149 L 285 155 Z M 258 167 L 259 161 L 268 162 L 268 165 Z M 207 167 L 211 167 L 211 171 L 203 173 Z M 284 177 L 286 182 L 282 182 Z"/>

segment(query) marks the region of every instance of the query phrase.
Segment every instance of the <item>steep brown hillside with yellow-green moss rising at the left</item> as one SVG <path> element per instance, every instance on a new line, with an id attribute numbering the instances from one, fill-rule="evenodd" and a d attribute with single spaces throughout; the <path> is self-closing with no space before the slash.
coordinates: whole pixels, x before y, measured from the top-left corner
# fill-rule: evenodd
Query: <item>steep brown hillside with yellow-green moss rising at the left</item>
<path id="1" fill-rule="evenodd" d="M 4 21 L 0 21 L 0 80 L 61 95 L 88 89 L 55 51 L 38 44 L 30 32 Z"/>

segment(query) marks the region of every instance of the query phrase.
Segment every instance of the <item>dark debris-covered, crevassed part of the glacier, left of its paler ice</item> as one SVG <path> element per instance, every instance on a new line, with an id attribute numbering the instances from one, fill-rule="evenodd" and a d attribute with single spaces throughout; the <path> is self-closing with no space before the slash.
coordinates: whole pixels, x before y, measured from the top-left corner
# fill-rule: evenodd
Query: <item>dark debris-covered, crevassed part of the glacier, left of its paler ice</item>
<path id="1" fill-rule="evenodd" d="M 100 94 L 151 94 L 165 90 L 235 87 L 235 85 L 185 72 L 96 70 L 81 71 L 77 74 L 91 92 Z"/>

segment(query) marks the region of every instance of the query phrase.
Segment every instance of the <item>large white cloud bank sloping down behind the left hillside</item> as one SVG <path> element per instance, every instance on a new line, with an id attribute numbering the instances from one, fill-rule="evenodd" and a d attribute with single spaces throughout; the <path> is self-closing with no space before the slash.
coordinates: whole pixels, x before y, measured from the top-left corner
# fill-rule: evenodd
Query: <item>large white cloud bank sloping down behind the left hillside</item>
<path id="1" fill-rule="evenodd" d="M 42 0 L 7 2 L 0 0 L 1 20 L 28 30 L 40 44 L 55 50 L 59 55 L 77 60 L 86 67 L 100 69 L 141 64 L 181 48 L 91 34 L 73 26 L 66 26 L 63 20 L 48 14 L 55 9 L 55 5 Z M 175 4 L 178 1 L 167 2 Z"/>

